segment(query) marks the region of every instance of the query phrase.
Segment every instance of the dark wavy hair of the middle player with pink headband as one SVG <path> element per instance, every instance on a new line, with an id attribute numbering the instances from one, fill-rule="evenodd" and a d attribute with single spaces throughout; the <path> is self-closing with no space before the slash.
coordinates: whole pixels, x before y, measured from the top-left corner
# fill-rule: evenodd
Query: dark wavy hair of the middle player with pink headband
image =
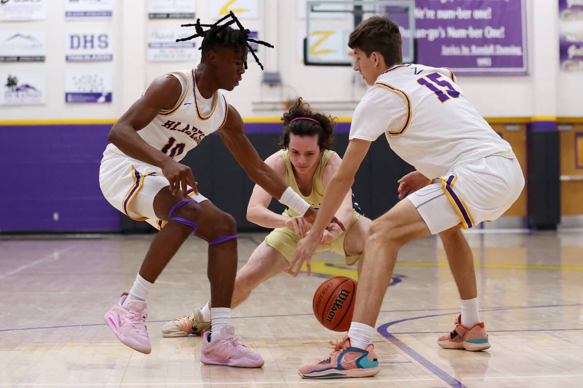
<path id="1" fill-rule="evenodd" d="M 316 120 L 316 122 L 310 119 Z M 292 120 L 293 122 L 291 122 Z M 334 144 L 335 120 L 336 118 L 330 115 L 326 116 L 323 113 L 312 112 L 310 104 L 304 102 L 300 97 L 289 111 L 283 113 L 283 134 L 279 139 L 279 143 L 275 143 L 275 145 L 278 148 L 287 149 L 290 143 L 290 133 L 293 133 L 296 136 L 318 135 L 320 151 L 330 149 Z"/>

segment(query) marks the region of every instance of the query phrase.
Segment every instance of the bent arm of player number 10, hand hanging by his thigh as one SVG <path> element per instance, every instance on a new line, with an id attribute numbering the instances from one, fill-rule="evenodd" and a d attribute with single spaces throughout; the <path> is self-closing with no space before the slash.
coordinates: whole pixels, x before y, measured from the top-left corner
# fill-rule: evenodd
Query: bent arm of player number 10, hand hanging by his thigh
<path id="1" fill-rule="evenodd" d="M 173 108 L 181 93 L 180 81 L 174 76 L 166 75 L 154 80 L 142 97 L 111 127 L 107 140 L 130 158 L 159 167 L 168 179 L 172 193 L 176 194 L 182 186 L 182 194 L 187 197 L 187 184 L 198 194 L 191 168 L 147 144 L 137 133 L 152 122 L 158 112 Z"/>

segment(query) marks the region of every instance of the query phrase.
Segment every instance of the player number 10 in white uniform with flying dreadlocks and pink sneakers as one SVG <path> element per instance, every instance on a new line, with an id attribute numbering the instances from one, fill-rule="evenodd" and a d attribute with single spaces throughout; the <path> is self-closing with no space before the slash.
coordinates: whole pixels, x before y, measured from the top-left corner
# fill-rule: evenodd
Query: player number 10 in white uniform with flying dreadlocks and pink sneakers
<path id="1" fill-rule="evenodd" d="M 219 25 L 228 17 L 229 22 Z M 261 355 L 238 344 L 229 325 L 237 271 L 237 229 L 232 216 L 201 195 L 192 170 L 179 163 L 201 140 L 219 131 L 240 165 L 259 186 L 306 218 L 315 216 L 291 187 L 266 165 L 244 134 L 241 116 L 219 89 L 233 90 L 247 68 L 249 30 L 230 13 L 212 25 L 195 25 L 202 36 L 196 69 L 158 77 L 114 124 L 99 174 L 106 199 L 132 219 L 160 229 L 129 294 L 105 315 L 125 345 L 150 353 L 146 297 L 164 266 L 190 234 L 209 243 L 208 276 L 212 330 L 203 338 L 201 361 L 243 367 L 264 364 Z M 229 24 L 237 23 L 238 30 Z M 203 31 L 202 27 L 210 27 Z M 189 39 L 187 38 L 187 39 Z M 265 42 L 259 42 L 266 44 Z M 251 51 L 252 52 L 252 51 Z M 252 55 L 257 60 L 255 54 Z M 257 60 L 259 63 L 259 61 Z M 261 63 L 259 63 L 261 66 Z"/>

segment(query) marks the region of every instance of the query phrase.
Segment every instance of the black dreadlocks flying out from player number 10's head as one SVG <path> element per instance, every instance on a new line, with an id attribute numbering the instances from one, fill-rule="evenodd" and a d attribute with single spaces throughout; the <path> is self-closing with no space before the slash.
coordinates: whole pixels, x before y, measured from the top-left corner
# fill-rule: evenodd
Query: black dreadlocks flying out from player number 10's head
<path id="1" fill-rule="evenodd" d="M 228 20 L 223 24 L 219 24 L 220 22 L 223 22 L 223 20 L 226 20 L 229 17 L 231 18 L 231 20 Z M 237 27 L 239 29 L 238 30 L 232 29 L 231 27 L 229 27 L 231 24 L 237 24 Z M 222 19 L 217 20 L 217 22 L 214 24 L 201 24 L 201 19 L 196 19 L 195 24 L 181 24 L 181 27 L 193 27 L 193 26 L 196 31 L 196 34 L 191 35 L 187 38 L 177 39 L 176 41 L 183 42 L 194 39 L 196 37 L 202 37 L 202 44 L 199 50 L 202 50 L 203 55 L 218 44 L 223 45 L 223 47 L 233 47 L 235 51 L 237 51 L 240 48 L 248 49 L 248 51 L 251 52 L 253 58 L 255 58 L 255 62 L 257 62 L 259 67 L 261 67 L 261 70 L 263 70 L 263 65 L 261 65 L 261 62 L 259 62 L 259 58 L 257 58 L 257 55 L 255 55 L 255 52 L 251 45 L 249 44 L 249 42 L 254 42 L 257 44 L 273 48 L 273 45 L 269 44 L 268 42 L 250 38 L 249 33 L 251 31 L 243 28 L 243 24 L 239 22 L 239 19 L 237 19 L 237 16 L 235 16 L 233 11 L 229 11 L 229 15 L 224 16 Z M 209 29 L 205 31 L 203 27 L 209 27 Z M 245 69 L 247 69 L 247 61 L 245 61 Z"/>

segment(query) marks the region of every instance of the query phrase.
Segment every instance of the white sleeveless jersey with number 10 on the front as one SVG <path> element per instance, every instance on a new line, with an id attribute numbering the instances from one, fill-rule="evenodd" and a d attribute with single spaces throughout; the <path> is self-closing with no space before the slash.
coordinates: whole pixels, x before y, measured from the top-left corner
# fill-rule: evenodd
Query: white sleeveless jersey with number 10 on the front
<path id="1" fill-rule="evenodd" d="M 152 122 L 138 131 L 138 135 L 147 144 L 160 149 L 175 161 L 180 161 L 205 136 L 223 126 L 227 118 L 227 100 L 216 91 L 212 101 L 206 101 L 210 102 L 212 109 L 205 115 L 201 108 L 202 96 L 196 89 L 195 70 L 178 70 L 168 74 L 180 80 L 180 98 L 173 108 L 160 111 Z M 107 152 L 123 154 L 113 144 L 107 145 L 104 155 Z"/>

